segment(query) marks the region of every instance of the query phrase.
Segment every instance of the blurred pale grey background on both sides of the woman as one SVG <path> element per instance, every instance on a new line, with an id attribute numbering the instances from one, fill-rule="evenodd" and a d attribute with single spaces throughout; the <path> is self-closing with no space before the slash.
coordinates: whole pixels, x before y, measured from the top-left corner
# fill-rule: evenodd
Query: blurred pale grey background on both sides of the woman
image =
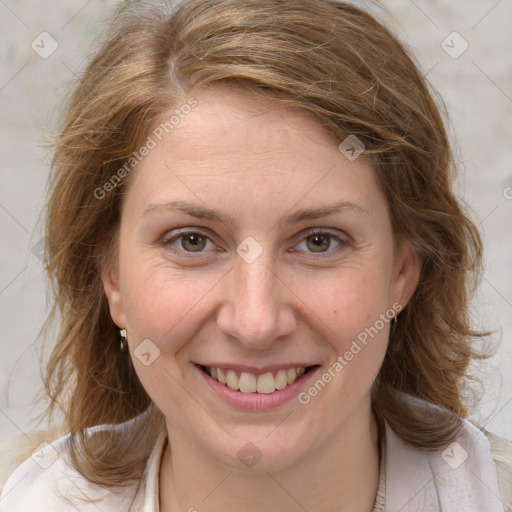
<path id="1" fill-rule="evenodd" d="M 37 336 L 48 311 L 40 212 L 51 155 L 43 144 L 116 3 L 0 0 L 0 439 L 33 428 L 37 412 Z M 484 394 L 471 417 L 512 439 L 512 0 L 380 4 L 448 107 L 459 195 L 486 248 L 475 319 L 499 345 L 476 368 Z"/>

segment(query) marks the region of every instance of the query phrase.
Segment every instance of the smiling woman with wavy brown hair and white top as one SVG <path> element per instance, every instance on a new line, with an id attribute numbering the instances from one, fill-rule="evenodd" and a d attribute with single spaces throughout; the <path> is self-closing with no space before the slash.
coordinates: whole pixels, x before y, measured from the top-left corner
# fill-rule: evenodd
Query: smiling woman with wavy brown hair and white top
<path id="1" fill-rule="evenodd" d="M 123 6 L 53 161 L 48 414 L 0 510 L 504 511 L 421 72 L 328 0 Z M 30 450 L 29 450 L 30 454 Z"/>

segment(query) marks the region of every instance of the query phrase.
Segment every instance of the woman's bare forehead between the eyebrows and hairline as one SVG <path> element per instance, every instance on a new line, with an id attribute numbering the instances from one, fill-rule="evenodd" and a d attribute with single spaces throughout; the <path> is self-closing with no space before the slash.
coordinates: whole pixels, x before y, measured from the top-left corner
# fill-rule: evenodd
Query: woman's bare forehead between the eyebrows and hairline
<path id="1" fill-rule="evenodd" d="M 344 157 L 312 114 L 227 88 L 192 95 L 197 106 L 132 177 L 131 187 L 146 202 L 175 200 L 167 196 L 178 193 L 210 202 L 215 195 L 223 203 L 250 200 L 258 207 L 280 199 L 301 200 L 304 206 L 324 198 L 370 199 L 376 183 L 369 164 Z M 336 197 L 342 192 L 346 197 Z"/>

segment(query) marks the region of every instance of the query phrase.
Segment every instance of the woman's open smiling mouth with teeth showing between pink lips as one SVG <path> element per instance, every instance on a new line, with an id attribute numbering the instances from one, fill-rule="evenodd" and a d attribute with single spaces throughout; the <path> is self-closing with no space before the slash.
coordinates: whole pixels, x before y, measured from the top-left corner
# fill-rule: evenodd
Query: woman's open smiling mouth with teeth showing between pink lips
<path id="1" fill-rule="evenodd" d="M 224 398 L 233 398 L 233 404 L 253 403 L 261 408 L 264 404 L 277 405 L 297 393 L 306 378 L 309 378 L 319 365 L 281 368 L 274 371 L 251 373 L 232 368 L 216 368 L 196 365 L 206 376 L 208 384 Z M 272 400 L 275 398 L 276 401 Z M 245 401 L 244 401 L 245 400 Z M 243 402 L 244 401 L 244 402 Z M 285 400 L 286 401 L 286 400 Z"/>

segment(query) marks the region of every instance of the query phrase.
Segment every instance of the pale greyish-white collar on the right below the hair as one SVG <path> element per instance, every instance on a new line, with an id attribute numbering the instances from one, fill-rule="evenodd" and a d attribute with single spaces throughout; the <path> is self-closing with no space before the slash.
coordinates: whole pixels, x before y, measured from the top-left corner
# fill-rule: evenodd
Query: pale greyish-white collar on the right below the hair
<path id="1" fill-rule="evenodd" d="M 422 412 L 440 409 L 404 397 Z M 420 450 L 402 441 L 386 424 L 387 512 L 504 512 L 496 465 L 485 434 L 462 420 L 445 449 Z"/>

